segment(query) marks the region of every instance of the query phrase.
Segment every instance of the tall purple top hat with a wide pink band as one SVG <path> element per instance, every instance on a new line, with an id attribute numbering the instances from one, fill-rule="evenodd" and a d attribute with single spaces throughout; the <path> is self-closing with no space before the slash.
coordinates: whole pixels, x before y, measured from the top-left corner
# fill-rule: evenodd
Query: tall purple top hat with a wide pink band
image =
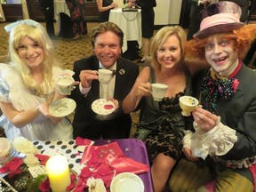
<path id="1" fill-rule="evenodd" d="M 200 12 L 202 18 L 200 30 L 193 37 L 201 39 L 216 33 L 226 33 L 241 28 L 244 25 L 239 20 L 241 14 L 241 8 L 233 2 L 222 1 L 211 4 Z"/>

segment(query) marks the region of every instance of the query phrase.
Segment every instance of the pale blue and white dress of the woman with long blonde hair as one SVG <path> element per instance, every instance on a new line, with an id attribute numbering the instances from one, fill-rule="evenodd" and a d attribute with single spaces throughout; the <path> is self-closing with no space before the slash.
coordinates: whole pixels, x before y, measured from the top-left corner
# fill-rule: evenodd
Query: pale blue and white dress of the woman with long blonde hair
<path id="1" fill-rule="evenodd" d="M 63 72 L 60 68 L 53 69 L 54 77 Z M 18 111 L 28 108 L 36 108 L 45 101 L 30 92 L 23 83 L 20 73 L 12 65 L 0 63 L 0 101 L 12 103 L 13 108 Z M 7 118 L 0 117 L 0 126 L 9 140 L 16 137 L 24 137 L 28 140 L 71 140 L 73 139 L 73 128 L 68 118 L 62 118 L 59 123 L 52 121 L 40 114 L 30 124 L 22 128 L 16 128 Z"/>

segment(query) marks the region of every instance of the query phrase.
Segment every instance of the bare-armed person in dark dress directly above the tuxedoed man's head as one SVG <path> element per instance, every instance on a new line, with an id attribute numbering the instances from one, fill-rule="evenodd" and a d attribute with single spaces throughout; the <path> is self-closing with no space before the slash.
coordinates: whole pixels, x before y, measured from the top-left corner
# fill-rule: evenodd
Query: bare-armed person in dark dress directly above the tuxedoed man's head
<path id="1" fill-rule="evenodd" d="M 110 10 L 118 6 L 113 0 L 97 0 L 96 3 L 99 10 L 99 22 L 108 21 Z"/>

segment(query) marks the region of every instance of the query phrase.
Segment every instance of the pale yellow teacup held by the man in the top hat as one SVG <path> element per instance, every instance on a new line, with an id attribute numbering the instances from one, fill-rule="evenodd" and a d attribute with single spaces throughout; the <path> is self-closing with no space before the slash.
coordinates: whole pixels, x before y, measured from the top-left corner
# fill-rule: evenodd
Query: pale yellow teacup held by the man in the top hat
<path id="1" fill-rule="evenodd" d="M 199 101 L 191 96 L 182 96 L 179 99 L 180 108 L 182 109 L 181 114 L 183 116 L 191 116 L 191 112 L 198 106 Z"/>

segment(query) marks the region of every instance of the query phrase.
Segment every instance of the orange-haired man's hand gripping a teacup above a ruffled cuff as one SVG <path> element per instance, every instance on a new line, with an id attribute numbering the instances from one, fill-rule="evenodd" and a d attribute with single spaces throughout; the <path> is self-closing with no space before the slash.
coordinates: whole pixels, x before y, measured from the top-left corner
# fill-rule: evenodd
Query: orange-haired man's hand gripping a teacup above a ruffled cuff
<path id="1" fill-rule="evenodd" d="M 204 132 L 212 130 L 212 128 L 216 126 L 216 122 L 218 120 L 218 116 L 199 107 L 192 112 L 192 116 L 194 117 L 198 127 Z"/>

